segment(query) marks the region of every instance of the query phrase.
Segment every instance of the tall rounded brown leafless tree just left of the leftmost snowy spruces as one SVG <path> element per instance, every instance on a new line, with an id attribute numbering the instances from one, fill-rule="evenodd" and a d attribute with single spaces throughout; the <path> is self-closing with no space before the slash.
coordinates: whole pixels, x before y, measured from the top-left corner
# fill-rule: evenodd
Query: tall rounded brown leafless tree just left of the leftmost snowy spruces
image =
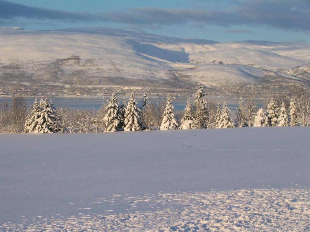
<path id="1" fill-rule="evenodd" d="M 13 97 L 10 119 L 16 133 L 24 131 L 24 125 L 27 118 L 27 104 L 23 97 Z"/>

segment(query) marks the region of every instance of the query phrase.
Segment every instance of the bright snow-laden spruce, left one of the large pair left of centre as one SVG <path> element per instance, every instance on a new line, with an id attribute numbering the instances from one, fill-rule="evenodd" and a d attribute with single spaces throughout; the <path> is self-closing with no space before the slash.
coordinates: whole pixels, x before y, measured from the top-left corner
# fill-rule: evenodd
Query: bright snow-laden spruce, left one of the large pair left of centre
<path id="1" fill-rule="evenodd" d="M 106 114 L 103 118 L 105 123 L 105 131 L 121 131 L 122 126 L 122 112 L 119 109 L 119 104 L 115 93 L 112 94 L 110 100 L 108 101 L 108 105 L 106 106 Z"/>

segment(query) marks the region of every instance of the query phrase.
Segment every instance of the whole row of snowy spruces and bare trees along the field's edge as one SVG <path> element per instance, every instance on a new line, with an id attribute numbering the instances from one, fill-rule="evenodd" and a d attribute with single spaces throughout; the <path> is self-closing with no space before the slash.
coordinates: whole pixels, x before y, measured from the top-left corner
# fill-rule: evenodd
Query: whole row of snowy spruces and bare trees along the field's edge
<path id="1" fill-rule="evenodd" d="M 144 94 L 138 107 L 134 92 L 128 102 L 119 104 L 113 93 L 98 111 L 73 110 L 66 106 L 55 109 L 52 100 L 36 98 L 27 115 L 24 98 L 14 97 L 11 105 L 0 103 L 0 133 L 88 133 L 109 131 L 176 130 L 229 127 L 309 126 L 310 96 L 302 89 L 288 100 L 268 100 L 266 109 L 258 109 L 253 97 L 240 98 L 236 118 L 231 119 L 226 102 L 216 105 L 205 99 L 200 84 L 192 105 L 189 97 L 180 118 L 174 114 L 172 98 L 151 102 Z"/>

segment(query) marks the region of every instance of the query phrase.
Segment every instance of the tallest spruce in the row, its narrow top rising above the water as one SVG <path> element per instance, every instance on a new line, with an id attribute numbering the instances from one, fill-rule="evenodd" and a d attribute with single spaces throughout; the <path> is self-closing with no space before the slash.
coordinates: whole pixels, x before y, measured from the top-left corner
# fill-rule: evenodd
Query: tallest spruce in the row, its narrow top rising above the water
<path id="1" fill-rule="evenodd" d="M 207 112 L 206 112 L 206 104 L 207 101 L 203 99 L 205 96 L 205 92 L 203 90 L 203 85 L 199 84 L 198 90 L 195 94 L 195 105 L 194 105 L 194 110 L 193 110 L 193 121 L 195 124 L 195 128 L 201 129 L 201 128 L 206 128 L 206 117 L 207 117 Z"/>

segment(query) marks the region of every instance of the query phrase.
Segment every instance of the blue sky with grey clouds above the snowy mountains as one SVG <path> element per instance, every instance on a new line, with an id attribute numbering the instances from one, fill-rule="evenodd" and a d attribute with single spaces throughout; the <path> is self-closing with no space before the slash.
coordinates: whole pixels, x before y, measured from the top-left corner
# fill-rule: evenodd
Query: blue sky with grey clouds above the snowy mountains
<path id="1" fill-rule="evenodd" d="M 0 27 L 113 27 L 218 42 L 310 44 L 310 0 L 0 0 Z"/>

